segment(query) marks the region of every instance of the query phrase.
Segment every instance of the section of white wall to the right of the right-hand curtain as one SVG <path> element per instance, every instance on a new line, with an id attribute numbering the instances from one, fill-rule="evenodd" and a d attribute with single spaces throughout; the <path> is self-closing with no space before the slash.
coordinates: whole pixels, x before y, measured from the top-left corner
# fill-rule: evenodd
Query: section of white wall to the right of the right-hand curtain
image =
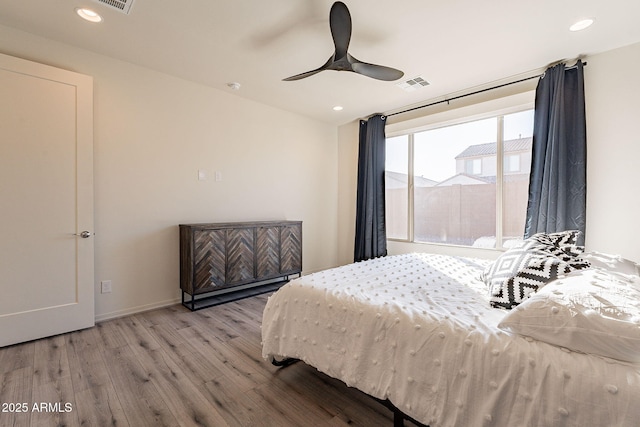
<path id="1" fill-rule="evenodd" d="M 640 262 L 640 43 L 585 68 L 586 246 Z"/>

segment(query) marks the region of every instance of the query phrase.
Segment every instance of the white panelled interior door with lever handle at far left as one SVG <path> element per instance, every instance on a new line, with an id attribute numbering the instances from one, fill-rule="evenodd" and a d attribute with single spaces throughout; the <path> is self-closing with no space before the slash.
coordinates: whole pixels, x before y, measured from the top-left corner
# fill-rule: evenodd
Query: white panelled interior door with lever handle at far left
<path id="1" fill-rule="evenodd" d="M 93 79 L 0 55 L 0 346 L 94 325 L 92 235 Z"/>

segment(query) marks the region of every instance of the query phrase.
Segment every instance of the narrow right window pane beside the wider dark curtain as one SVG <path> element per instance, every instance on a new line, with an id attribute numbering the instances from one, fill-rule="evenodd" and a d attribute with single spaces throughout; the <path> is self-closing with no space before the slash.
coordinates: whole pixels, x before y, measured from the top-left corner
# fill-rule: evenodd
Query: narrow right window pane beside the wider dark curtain
<path id="1" fill-rule="evenodd" d="M 533 110 L 504 116 L 503 246 L 521 240 L 527 213 Z"/>

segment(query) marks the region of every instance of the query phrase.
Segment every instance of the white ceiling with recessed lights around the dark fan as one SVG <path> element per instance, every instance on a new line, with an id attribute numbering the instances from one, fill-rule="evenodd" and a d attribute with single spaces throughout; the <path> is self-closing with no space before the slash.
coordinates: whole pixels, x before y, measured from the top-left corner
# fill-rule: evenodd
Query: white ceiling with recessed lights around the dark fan
<path id="1" fill-rule="evenodd" d="M 336 71 L 283 82 L 333 53 L 331 0 L 135 0 L 129 15 L 95 0 L 0 0 L 0 24 L 336 125 L 640 41 L 638 0 L 345 3 L 351 54 L 431 85 L 405 92 Z M 104 21 L 79 19 L 78 6 Z M 568 31 L 583 17 L 595 24 Z"/>

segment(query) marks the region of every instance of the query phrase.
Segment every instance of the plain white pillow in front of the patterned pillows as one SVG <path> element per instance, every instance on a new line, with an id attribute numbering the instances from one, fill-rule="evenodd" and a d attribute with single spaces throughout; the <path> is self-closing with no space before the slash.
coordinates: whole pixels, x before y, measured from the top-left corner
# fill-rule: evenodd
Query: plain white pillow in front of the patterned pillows
<path id="1" fill-rule="evenodd" d="M 500 329 L 570 350 L 640 362 L 640 277 L 587 269 L 555 280 Z"/>

